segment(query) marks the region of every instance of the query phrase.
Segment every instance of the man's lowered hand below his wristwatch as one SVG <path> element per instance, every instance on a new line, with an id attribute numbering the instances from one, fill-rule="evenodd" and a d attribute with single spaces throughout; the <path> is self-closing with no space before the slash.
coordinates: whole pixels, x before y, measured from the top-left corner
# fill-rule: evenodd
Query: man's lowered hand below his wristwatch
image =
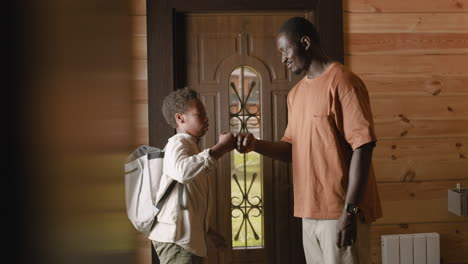
<path id="1" fill-rule="evenodd" d="M 356 241 L 357 215 L 343 212 L 336 224 L 336 245 L 339 248 L 351 246 Z"/>

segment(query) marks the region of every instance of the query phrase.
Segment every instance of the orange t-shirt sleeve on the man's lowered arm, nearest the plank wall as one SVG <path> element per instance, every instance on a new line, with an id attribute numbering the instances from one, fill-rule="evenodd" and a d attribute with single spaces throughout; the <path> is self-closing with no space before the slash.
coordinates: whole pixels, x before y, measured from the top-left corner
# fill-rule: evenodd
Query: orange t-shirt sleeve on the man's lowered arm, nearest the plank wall
<path id="1" fill-rule="evenodd" d="M 341 80 L 339 91 L 343 93 L 340 103 L 346 141 L 353 150 L 376 142 L 369 94 L 365 84 L 358 76 L 349 74 Z"/>

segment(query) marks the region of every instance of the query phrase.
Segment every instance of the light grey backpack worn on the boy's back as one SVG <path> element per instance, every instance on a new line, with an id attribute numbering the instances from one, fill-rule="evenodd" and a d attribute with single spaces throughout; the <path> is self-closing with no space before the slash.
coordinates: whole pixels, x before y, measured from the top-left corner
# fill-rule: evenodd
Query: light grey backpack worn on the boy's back
<path id="1" fill-rule="evenodd" d="M 159 211 L 177 181 L 160 186 L 163 175 L 164 150 L 142 145 L 130 154 L 125 162 L 125 202 L 127 216 L 133 226 L 149 236 L 157 222 Z M 179 188 L 179 205 L 182 205 L 183 184 Z M 166 188 L 156 201 L 160 188 Z"/>

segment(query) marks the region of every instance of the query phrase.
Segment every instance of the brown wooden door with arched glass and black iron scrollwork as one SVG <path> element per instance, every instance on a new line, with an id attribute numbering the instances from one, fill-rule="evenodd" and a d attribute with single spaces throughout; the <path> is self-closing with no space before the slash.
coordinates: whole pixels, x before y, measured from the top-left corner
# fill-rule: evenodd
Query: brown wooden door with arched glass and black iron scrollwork
<path id="1" fill-rule="evenodd" d="M 286 96 L 302 76 L 281 62 L 276 33 L 295 13 L 204 13 L 176 20 L 178 86 L 200 93 L 210 130 L 208 148 L 220 132 L 251 132 L 280 140 L 287 122 Z M 231 243 L 210 248 L 208 263 L 301 263 L 299 219 L 293 218 L 292 179 L 285 162 L 233 151 L 219 162 L 211 222 Z"/>

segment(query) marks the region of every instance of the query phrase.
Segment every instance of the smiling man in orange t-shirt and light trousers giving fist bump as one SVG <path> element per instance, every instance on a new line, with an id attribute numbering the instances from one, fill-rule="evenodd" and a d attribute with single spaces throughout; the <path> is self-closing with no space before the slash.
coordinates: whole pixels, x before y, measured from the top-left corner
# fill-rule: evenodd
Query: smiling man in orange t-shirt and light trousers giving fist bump
<path id="1" fill-rule="evenodd" d="M 279 142 L 238 135 L 237 149 L 292 161 L 294 216 L 301 217 L 307 263 L 368 263 L 369 223 L 381 217 L 371 160 L 377 141 L 367 89 L 328 58 L 308 20 L 288 19 L 276 45 L 282 62 L 305 72 L 288 93 Z"/>

